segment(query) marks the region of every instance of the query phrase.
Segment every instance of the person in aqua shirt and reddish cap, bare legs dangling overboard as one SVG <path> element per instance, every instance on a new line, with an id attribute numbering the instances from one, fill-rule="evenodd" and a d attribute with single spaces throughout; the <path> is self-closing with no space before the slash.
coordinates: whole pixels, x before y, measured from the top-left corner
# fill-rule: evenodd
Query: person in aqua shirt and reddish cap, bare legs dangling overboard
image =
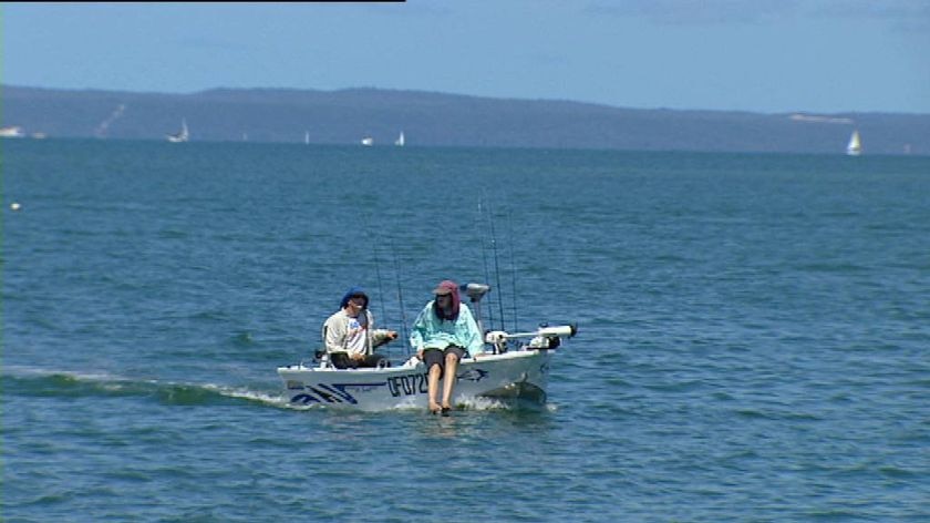
<path id="1" fill-rule="evenodd" d="M 426 304 L 413 324 L 410 342 L 417 358 L 426 363 L 430 411 L 446 413 L 452 409 L 458 362 L 466 351 L 477 358 L 484 351 L 484 341 L 472 311 L 458 298 L 455 281 L 443 280 L 433 294 L 435 299 Z M 437 401 L 440 379 L 444 379 L 442 404 Z"/>

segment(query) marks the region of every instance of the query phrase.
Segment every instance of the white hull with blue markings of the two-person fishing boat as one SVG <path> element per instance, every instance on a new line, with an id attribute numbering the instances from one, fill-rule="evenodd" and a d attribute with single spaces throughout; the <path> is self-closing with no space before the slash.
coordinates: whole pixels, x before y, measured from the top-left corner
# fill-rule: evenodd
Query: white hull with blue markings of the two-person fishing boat
<path id="1" fill-rule="evenodd" d="M 476 398 L 544 402 L 551 352 L 517 350 L 462 360 L 456 369 L 453 403 L 467 403 Z M 292 406 L 366 411 L 427 406 L 426 367 L 415 358 L 384 369 L 338 370 L 294 365 L 279 367 L 278 376 Z"/>

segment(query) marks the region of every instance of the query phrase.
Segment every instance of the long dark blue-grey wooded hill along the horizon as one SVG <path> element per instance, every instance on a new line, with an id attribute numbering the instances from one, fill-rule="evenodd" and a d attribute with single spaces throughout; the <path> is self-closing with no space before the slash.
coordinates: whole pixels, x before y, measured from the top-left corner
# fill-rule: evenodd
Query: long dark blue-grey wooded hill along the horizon
<path id="1" fill-rule="evenodd" d="M 7 85 L 2 125 L 50 137 L 841 153 L 854 126 L 865 154 L 930 155 L 930 114 L 762 114 L 622 109 L 422 91 L 215 89 L 193 94 Z"/>

